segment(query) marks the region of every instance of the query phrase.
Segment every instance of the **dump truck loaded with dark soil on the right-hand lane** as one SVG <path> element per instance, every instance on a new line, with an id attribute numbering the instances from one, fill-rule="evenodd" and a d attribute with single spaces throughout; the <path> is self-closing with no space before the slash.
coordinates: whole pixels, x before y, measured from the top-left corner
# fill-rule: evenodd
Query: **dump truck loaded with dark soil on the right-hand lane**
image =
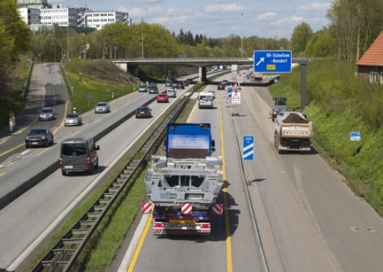
<path id="1" fill-rule="evenodd" d="M 279 112 L 275 119 L 274 147 L 283 151 L 311 151 L 313 123 L 302 112 Z"/>

